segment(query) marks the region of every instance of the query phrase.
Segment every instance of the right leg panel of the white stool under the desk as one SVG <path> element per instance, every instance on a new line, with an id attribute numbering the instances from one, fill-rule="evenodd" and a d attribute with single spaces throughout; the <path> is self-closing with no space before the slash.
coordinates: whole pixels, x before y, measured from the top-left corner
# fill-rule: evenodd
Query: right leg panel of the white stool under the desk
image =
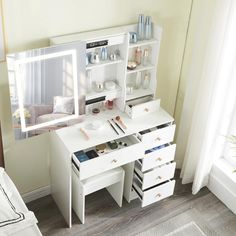
<path id="1" fill-rule="evenodd" d="M 125 178 L 125 172 L 123 171 L 121 173 L 121 181 L 107 187 L 107 191 L 111 194 L 111 196 L 114 198 L 114 200 L 120 207 L 122 207 L 122 200 L 123 200 L 124 178 Z"/>

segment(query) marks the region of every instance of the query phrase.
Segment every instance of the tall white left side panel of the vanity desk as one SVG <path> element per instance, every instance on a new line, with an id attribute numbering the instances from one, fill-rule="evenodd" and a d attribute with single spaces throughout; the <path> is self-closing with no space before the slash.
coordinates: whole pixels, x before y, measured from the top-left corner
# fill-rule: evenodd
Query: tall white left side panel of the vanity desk
<path id="1" fill-rule="evenodd" d="M 50 134 L 50 144 L 52 197 L 71 227 L 71 155 L 54 132 Z"/>

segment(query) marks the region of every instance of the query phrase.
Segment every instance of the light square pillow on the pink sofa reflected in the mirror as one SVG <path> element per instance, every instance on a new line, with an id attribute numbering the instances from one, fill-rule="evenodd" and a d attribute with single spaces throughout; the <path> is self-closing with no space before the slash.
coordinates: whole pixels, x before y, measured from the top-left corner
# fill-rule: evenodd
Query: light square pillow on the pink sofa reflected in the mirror
<path id="1" fill-rule="evenodd" d="M 73 114 L 74 112 L 74 98 L 73 97 L 54 97 L 53 113 Z"/>

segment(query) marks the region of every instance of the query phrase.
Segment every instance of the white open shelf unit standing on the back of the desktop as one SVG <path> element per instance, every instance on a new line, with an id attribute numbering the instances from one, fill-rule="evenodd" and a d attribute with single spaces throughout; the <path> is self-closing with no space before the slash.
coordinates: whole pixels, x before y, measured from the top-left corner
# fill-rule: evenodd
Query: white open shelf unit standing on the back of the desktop
<path id="1" fill-rule="evenodd" d="M 114 91 L 104 90 L 100 93 L 92 91 L 85 92 L 86 100 L 106 96 L 106 99 L 116 99 L 116 105 L 122 111 L 125 110 L 126 101 L 140 98 L 147 95 L 155 96 L 157 84 L 157 62 L 161 41 L 161 28 L 159 26 L 153 27 L 153 38 L 150 40 L 138 41 L 137 43 L 129 43 L 129 32 L 135 32 L 136 24 L 127 25 L 123 27 L 116 27 L 111 29 L 97 30 L 93 32 L 77 33 L 72 35 L 58 36 L 50 39 L 51 45 L 70 43 L 75 41 L 85 41 L 87 44 L 108 41 L 106 45 L 108 55 L 115 52 L 117 49 L 120 52 L 120 57 L 115 61 L 106 60 L 98 64 L 89 63 L 86 66 L 86 71 L 90 70 L 92 73 L 92 80 L 94 82 L 105 82 L 107 80 L 114 80 L 118 87 Z M 87 48 L 86 53 L 97 52 L 100 55 L 103 46 L 96 46 L 94 48 Z M 149 50 L 149 63 L 146 66 L 142 64 L 137 66 L 134 70 L 127 69 L 128 60 L 134 59 L 134 52 L 137 47 L 141 47 L 142 52 L 145 48 Z M 85 58 L 85 55 L 84 55 Z M 137 72 L 150 74 L 150 85 L 148 89 L 134 89 L 133 94 L 126 94 L 126 86 L 129 83 L 135 84 Z M 85 86 L 86 87 L 86 86 Z"/>

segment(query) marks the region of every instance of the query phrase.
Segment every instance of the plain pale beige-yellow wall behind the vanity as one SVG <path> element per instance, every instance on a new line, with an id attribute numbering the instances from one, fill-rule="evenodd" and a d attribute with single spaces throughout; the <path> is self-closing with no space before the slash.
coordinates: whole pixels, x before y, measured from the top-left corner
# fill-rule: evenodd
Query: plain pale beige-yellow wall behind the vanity
<path id="1" fill-rule="evenodd" d="M 140 12 L 149 14 L 163 27 L 157 92 L 173 114 L 190 5 L 191 0 L 3 0 L 7 51 L 47 46 L 51 36 L 130 24 Z M 46 136 L 14 142 L 5 63 L 0 63 L 0 118 L 6 169 L 20 192 L 50 184 Z"/>

